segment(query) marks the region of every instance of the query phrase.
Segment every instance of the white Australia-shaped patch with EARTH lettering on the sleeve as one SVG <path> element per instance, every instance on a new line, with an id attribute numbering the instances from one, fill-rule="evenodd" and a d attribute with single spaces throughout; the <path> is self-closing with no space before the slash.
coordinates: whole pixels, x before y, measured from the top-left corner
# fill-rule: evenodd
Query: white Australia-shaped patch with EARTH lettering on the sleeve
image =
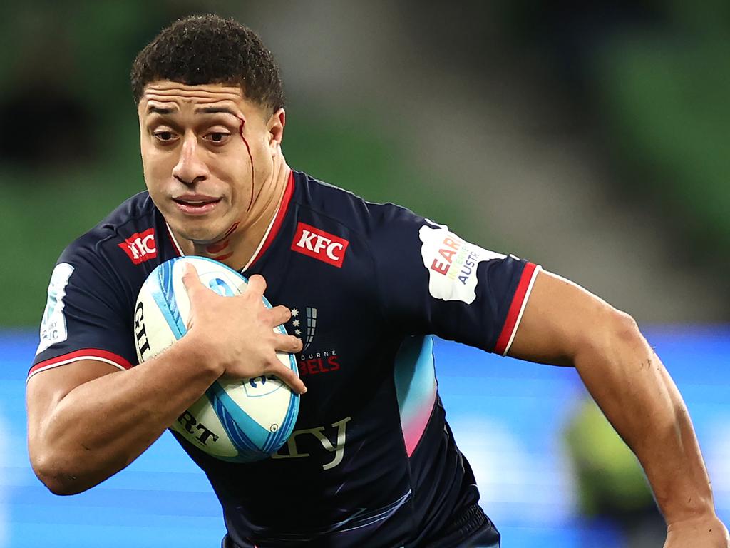
<path id="1" fill-rule="evenodd" d="M 477 298 L 477 265 L 504 255 L 466 242 L 448 227 L 424 225 L 418 231 L 423 245 L 420 254 L 429 271 L 429 292 L 441 300 L 461 300 L 467 305 Z"/>

